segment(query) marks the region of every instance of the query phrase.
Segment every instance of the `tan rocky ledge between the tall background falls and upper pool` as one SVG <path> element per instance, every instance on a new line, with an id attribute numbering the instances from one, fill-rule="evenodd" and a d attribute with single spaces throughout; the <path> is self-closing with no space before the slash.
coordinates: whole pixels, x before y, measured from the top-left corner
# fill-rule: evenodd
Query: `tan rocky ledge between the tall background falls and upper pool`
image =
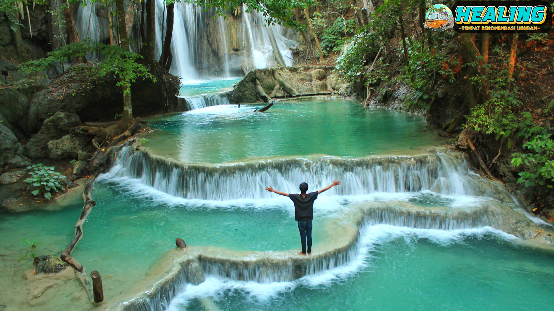
<path id="1" fill-rule="evenodd" d="M 347 95 L 346 92 L 347 84 L 335 73 L 334 67 L 293 66 L 251 70 L 230 92 L 230 100 L 234 103 L 266 101 L 262 93 L 273 98 L 332 93 Z"/>

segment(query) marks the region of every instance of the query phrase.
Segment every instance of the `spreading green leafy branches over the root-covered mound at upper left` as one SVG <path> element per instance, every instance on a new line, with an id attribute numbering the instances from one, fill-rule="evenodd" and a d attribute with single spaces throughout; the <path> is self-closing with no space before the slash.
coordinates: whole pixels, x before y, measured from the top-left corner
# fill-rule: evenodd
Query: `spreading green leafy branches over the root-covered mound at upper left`
<path id="1" fill-rule="evenodd" d="M 66 59 L 82 58 L 93 52 L 104 55 L 104 60 L 95 67 L 94 74 L 96 76 L 112 75 L 116 77 L 119 81 L 117 86 L 127 86 L 127 92 L 131 91 L 131 83 L 139 77 L 152 79 L 156 82 L 155 77 L 148 72 L 148 69 L 136 62 L 137 59 L 142 58 L 141 55 L 126 51 L 119 46 L 102 44 L 90 39 L 61 46 L 49 52 L 46 58 L 28 61 L 21 64 L 19 68 L 26 74 L 35 74 L 57 63 L 62 63 Z"/>

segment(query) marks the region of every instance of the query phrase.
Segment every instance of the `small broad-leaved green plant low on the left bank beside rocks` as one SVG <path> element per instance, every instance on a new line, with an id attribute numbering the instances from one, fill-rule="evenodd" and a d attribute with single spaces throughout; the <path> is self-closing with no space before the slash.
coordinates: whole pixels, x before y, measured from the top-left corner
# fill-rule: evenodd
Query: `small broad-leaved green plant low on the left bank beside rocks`
<path id="1" fill-rule="evenodd" d="M 34 190 L 31 191 L 33 195 L 43 194 L 44 198 L 50 200 L 52 198 L 52 193 L 58 193 L 61 189 L 64 188 L 63 180 L 65 176 L 61 173 L 54 172 L 54 167 L 46 167 L 42 163 L 33 164 L 27 169 L 33 169 L 34 172 L 31 173 L 31 177 L 23 180 L 25 183 L 29 184 L 30 188 Z"/>

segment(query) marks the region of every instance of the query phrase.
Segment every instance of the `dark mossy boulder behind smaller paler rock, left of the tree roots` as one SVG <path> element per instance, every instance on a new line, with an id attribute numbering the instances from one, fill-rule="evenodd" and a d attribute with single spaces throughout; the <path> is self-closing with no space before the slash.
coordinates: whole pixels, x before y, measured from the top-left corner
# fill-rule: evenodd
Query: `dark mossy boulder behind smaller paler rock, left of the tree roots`
<path id="1" fill-rule="evenodd" d="M 48 142 L 69 134 L 69 129 L 79 126 L 81 120 L 78 115 L 68 112 L 56 112 L 47 118 L 40 131 L 25 145 L 25 152 L 29 158 L 41 158 L 48 155 Z"/>

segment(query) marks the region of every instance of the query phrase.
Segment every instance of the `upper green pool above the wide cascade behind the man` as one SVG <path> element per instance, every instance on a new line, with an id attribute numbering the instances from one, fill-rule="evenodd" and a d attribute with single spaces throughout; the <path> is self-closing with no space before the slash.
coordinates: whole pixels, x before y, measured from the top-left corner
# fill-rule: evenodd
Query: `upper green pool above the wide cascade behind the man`
<path id="1" fill-rule="evenodd" d="M 425 130 L 422 117 L 348 100 L 277 102 L 206 107 L 150 119 L 146 146 L 155 154 L 187 163 L 327 154 L 365 157 L 413 154 L 445 140 Z"/>

